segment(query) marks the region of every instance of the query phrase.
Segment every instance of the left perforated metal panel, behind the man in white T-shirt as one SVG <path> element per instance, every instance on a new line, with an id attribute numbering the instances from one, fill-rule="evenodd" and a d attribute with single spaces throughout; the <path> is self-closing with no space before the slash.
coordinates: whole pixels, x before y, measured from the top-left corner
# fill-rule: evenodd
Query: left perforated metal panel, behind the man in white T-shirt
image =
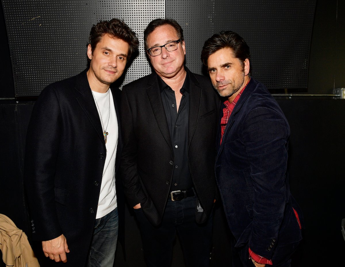
<path id="1" fill-rule="evenodd" d="M 155 18 L 165 17 L 163 0 L 2 0 L 16 96 L 38 95 L 48 84 L 87 67 L 90 29 L 99 20 L 124 19 L 139 36 L 139 56 L 122 84 L 151 73 L 142 43 Z"/>

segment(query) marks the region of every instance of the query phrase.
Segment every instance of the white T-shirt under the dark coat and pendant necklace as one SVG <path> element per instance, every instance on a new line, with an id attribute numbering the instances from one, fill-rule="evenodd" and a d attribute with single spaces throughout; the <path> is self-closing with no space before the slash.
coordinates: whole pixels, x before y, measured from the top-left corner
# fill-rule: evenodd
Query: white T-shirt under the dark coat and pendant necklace
<path id="1" fill-rule="evenodd" d="M 98 92 L 92 91 L 92 93 L 97 100 L 97 104 L 102 115 L 103 126 L 107 128 L 106 131 L 108 132 L 107 143 L 106 143 L 107 155 L 106 155 L 105 164 L 103 168 L 101 191 L 99 193 L 98 208 L 97 208 L 97 214 L 96 214 L 96 219 L 98 219 L 107 215 L 109 212 L 113 211 L 117 207 L 116 189 L 115 189 L 115 160 L 116 160 L 117 142 L 118 142 L 118 137 L 119 137 L 119 128 L 117 125 L 114 100 L 112 98 L 111 90 L 109 90 L 110 118 L 109 118 L 108 127 L 107 127 L 108 116 L 109 116 L 108 92 L 98 93 Z M 99 116 L 99 119 L 101 120 L 101 116 Z M 103 130 L 105 130 L 105 128 Z"/>

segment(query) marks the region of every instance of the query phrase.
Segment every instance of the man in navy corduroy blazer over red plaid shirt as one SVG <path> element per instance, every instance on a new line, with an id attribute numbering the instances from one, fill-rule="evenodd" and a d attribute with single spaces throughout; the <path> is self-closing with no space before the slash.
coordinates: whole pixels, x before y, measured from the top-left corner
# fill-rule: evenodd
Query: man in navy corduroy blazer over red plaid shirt
<path id="1" fill-rule="evenodd" d="M 251 75 L 246 42 L 233 31 L 206 40 L 201 60 L 224 98 L 216 177 L 233 233 L 233 266 L 290 266 L 302 212 L 287 175 L 289 124 L 266 87 Z M 241 263 L 242 261 L 242 263 Z"/>

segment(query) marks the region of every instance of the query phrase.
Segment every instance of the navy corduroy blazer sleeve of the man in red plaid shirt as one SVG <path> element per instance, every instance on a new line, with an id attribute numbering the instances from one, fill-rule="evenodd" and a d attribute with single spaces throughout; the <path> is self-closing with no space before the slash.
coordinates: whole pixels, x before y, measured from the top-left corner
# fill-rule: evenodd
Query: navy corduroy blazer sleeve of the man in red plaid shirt
<path id="1" fill-rule="evenodd" d="M 249 247 L 272 258 L 286 205 L 289 126 L 273 109 L 251 110 L 243 121 L 243 142 L 253 182 L 253 227 Z"/>

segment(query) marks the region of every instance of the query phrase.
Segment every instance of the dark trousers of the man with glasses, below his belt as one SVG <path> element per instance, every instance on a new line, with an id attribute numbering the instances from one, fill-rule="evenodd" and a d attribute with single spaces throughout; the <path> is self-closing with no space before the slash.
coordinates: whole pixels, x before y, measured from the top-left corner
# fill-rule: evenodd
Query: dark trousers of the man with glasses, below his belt
<path id="1" fill-rule="evenodd" d="M 172 244 L 176 233 L 181 242 L 186 266 L 209 266 L 212 216 L 206 223 L 197 224 L 195 222 L 196 204 L 196 196 L 180 201 L 172 201 L 169 197 L 159 227 L 152 226 L 141 209 L 135 209 L 148 267 L 170 267 Z"/>

